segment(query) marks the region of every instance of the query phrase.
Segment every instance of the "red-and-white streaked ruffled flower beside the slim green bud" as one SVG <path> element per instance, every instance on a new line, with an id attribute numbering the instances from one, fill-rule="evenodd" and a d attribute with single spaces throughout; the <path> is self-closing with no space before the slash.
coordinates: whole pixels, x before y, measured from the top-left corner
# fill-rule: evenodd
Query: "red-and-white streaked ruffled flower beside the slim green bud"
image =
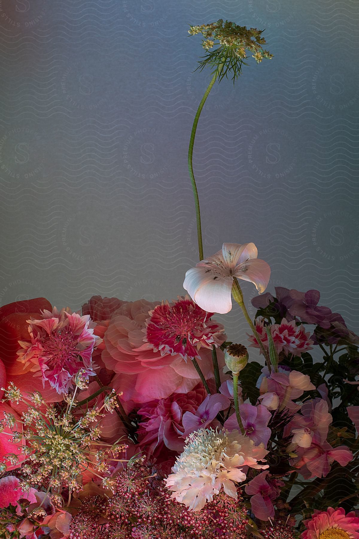
<path id="1" fill-rule="evenodd" d="M 261 317 L 256 319 L 255 326 L 262 343 L 268 347 L 268 335 L 266 334 L 266 327 Z M 310 332 L 308 331 L 306 333 L 302 324 L 296 326 L 294 320 L 287 322 L 284 318 L 280 324 L 272 324 L 270 328 L 274 347 L 278 354 L 283 351 L 286 355 L 293 354 L 294 356 L 300 356 L 303 352 L 312 349 L 311 344 L 313 344 L 313 341 L 309 338 Z M 251 341 L 251 346 L 259 348 L 254 335 L 248 334 L 248 337 L 249 341 Z"/>

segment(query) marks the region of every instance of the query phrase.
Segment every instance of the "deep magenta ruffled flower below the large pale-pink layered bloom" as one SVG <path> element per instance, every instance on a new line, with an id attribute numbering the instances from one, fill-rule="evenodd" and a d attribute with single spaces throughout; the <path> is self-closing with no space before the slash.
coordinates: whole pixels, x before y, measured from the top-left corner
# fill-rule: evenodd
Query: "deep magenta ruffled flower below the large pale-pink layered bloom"
<path id="1" fill-rule="evenodd" d="M 195 412 L 205 396 L 206 391 L 199 384 L 188 393 L 173 393 L 170 397 L 152 401 L 140 408 L 138 415 L 146 419 L 138 429 L 141 450 L 147 455 L 157 455 L 166 446 L 172 451 L 181 452 L 185 443 L 182 418 L 186 413 Z"/>

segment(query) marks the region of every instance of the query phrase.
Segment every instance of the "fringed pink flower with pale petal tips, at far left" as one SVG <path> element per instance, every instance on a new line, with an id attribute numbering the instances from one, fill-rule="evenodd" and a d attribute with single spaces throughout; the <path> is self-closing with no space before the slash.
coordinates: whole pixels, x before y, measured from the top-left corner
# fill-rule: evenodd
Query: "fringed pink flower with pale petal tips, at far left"
<path id="1" fill-rule="evenodd" d="M 43 311 L 43 319 L 27 320 L 31 341 L 19 341 L 19 361 L 32 362 L 33 372 L 41 371 L 45 381 L 58 393 L 67 393 L 80 369 L 95 376 L 91 356 L 100 342 L 90 328 L 89 315 L 80 316 L 69 308 Z"/>

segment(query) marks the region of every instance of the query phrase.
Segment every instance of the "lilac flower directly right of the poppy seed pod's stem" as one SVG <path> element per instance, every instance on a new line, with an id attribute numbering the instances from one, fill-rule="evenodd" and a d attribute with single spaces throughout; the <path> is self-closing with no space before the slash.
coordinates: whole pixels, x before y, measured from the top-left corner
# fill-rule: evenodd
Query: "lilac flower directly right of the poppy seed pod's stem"
<path id="1" fill-rule="evenodd" d="M 252 406 L 244 403 L 240 405 L 240 414 L 245 434 L 254 441 L 256 445 L 261 442 L 266 446 L 271 436 L 271 430 L 267 426 L 272 414 L 262 404 Z M 229 431 L 239 429 L 236 414 L 232 414 L 224 423 L 224 428 Z"/>

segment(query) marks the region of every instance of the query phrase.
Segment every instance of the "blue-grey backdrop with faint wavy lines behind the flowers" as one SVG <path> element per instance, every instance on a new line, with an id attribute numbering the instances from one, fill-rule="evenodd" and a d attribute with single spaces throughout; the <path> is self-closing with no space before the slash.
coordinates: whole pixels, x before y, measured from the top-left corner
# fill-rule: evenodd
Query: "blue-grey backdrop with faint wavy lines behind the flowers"
<path id="1" fill-rule="evenodd" d="M 187 24 L 218 18 L 265 27 L 274 58 L 215 86 L 203 110 L 205 253 L 254 241 L 269 289 L 318 288 L 357 330 L 354 0 L 2 0 L 1 305 L 184 292 L 197 258 L 187 144 L 209 80 L 193 73 Z M 236 308 L 222 318 L 245 338 Z"/>

